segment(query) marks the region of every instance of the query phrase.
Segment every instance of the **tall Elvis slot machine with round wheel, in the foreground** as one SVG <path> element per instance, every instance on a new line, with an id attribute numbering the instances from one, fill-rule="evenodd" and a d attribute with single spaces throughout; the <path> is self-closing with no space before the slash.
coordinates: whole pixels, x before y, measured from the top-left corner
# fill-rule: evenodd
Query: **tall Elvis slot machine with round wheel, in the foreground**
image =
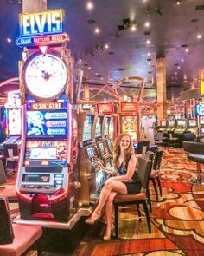
<path id="1" fill-rule="evenodd" d="M 73 186 L 76 157 L 73 140 L 77 135 L 70 99 L 73 59 L 64 47 L 68 40 L 63 36 L 68 36 L 61 33 L 62 14 L 62 10 L 54 10 L 20 16 L 24 34 L 17 43 L 23 47 L 27 43 L 22 55 L 26 58 L 20 65 L 24 104 L 22 152 L 16 181 L 23 220 L 63 222 L 70 219 L 77 207 L 77 188 Z M 43 23 L 44 31 L 41 24 L 42 36 L 33 35 L 38 31 L 34 21 L 50 16 L 52 19 L 48 21 L 53 24 Z"/>

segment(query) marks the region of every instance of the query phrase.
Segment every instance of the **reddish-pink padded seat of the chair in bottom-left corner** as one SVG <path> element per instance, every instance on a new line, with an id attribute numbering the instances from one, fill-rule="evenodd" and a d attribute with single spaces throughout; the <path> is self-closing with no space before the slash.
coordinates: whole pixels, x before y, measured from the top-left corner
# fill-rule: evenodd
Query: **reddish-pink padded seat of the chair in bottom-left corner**
<path id="1" fill-rule="evenodd" d="M 0 255 L 21 256 L 30 246 L 41 238 L 41 226 L 13 224 L 14 240 L 12 244 L 0 245 Z"/>

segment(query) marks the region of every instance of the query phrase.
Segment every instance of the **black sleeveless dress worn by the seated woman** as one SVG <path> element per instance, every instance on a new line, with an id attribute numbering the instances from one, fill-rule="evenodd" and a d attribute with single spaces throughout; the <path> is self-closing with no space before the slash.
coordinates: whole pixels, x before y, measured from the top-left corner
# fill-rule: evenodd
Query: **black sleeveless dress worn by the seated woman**
<path id="1" fill-rule="evenodd" d="M 124 175 L 126 174 L 126 171 L 123 169 L 122 164 L 120 167 L 118 167 L 118 174 Z M 137 175 L 137 172 L 135 171 L 131 181 L 122 181 L 124 185 L 127 187 L 127 194 L 138 194 L 141 191 L 142 184 L 140 182 L 140 179 Z"/>

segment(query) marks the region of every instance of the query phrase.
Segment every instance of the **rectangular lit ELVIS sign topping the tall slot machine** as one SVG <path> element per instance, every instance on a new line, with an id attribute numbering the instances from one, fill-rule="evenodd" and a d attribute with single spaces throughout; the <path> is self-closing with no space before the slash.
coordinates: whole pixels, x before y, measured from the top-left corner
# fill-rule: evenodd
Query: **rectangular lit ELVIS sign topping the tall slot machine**
<path id="1" fill-rule="evenodd" d="M 36 36 L 61 33 L 63 10 L 20 14 L 20 36 Z"/>

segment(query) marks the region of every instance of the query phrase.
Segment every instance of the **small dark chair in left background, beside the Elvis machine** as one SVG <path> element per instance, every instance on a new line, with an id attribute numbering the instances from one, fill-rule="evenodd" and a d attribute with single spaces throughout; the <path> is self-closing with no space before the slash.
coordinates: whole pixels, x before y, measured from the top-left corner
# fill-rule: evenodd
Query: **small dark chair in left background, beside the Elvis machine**
<path id="1" fill-rule="evenodd" d="M 15 172 L 15 169 L 19 161 L 19 150 L 17 144 L 5 144 L 3 145 L 3 152 L 5 156 L 6 173 L 8 173 L 9 168 Z"/>

